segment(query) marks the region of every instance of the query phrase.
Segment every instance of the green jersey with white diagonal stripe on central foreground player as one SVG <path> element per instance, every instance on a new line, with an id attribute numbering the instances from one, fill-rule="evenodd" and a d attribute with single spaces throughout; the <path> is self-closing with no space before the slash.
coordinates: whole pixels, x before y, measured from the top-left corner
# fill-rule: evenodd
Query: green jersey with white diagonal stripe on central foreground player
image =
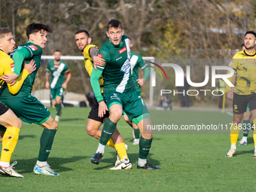
<path id="1" fill-rule="evenodd" d="M 129 38 L 125 35 L 119 45 L 115 46 L 111 41 L 106 41 L 99 50 L 98 56 L 105 59 L 102 72 L 104 87 L 103 92 L 117 91 L 118 93 L 133 93 L 136 91 L 130 69 Z M 99 66 L 97 66 L 99 67 Z"/>

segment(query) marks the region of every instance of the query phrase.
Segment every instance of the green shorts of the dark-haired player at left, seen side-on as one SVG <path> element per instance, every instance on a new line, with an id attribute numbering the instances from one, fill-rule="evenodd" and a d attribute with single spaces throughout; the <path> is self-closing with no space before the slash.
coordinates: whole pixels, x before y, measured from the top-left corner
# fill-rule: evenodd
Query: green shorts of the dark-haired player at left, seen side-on
<path id="1" fill-rule="evenodd" d="M 50 117 L 50 111 L 35 96 L 23 96 L 12 99 L 0 99 L 26 123 L 41 125 Z"/>

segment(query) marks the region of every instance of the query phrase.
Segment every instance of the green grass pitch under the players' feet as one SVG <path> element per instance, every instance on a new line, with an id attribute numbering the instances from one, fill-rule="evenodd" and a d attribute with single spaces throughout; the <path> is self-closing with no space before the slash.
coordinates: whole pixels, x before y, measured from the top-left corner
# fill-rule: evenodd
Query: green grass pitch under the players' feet
<path id="1" fill-rule="evenodd" d="M 49 108 L 51 113 L 55 109 Z M 229 131 L 154 130 L 149 163 L 162 170 L 136 169 L 139 146 L 133 145 L 132 129 L 123 118 L 117 128 L 129 145 L 130 170 L 109 170 L 114 166 L 114 150 L 105 148 L 99 165 L 90 163 L 98 140 L 86 133 L 90 108 L 64 108 L 59 129 L 48 158 L 51 168 L 60 176 L 35 175 L 39 139 L 43 128 L 23 123 L 20 139 L 11 157 L 17 160 L 15 170 L 24 178 L 0 176 L 1 191 L 255 191 L 254 145 L 237 146 L 237 156 L 224 157 L 230 149 Z M 218 111 L 155 111 L 152 124 L 228 124 L 229 114 Z M 178 133 L 178 134 L 176 134 Z M 192 134 L 191 134 L 192 133 Z M 218 133 L 218 134 L 215 134 Z M 224 133 L 224 134 L 222 134 Z M 242 135 L 239 136 L 239 139 Z M 2 148 L 2 145 L 0 144 Z"/>

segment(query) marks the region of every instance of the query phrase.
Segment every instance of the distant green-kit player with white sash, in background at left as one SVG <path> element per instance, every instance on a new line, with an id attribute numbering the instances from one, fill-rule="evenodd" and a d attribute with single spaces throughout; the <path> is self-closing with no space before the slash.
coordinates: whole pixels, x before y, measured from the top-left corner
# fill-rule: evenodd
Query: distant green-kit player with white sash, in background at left
<path id="1" fill-rule="evenodd" d="M 50 99 L 52 104 L 56 106 L 56 122 L 59 121 L 59 116 L 61 114 L 61 100 L 64 90 L 68 87 L 69 80 L 71 78 L 71 73 L 69 66 L 66 62 L 60 60 L 61 52 L 60 50 L 55 50 L 53 53 L 54 59 L 48 62 L 45 75 L 45 87 L 50 88 Z M 65 74 L 67 75 L 65 81 Z M 50 76 L 50 83 L 49 83 Z"/>

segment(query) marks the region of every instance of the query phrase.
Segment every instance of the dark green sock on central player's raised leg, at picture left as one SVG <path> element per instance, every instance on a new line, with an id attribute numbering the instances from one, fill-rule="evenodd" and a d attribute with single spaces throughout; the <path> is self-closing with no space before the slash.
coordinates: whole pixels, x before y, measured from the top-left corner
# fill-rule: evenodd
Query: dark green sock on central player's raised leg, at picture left
<path id="1" fill-rule="evenodd" d="M 103 129 L 102 129 L 102 136 L 100 136 L 99 143 L 101 145 L 106 145 L 108 140 L 114 133 L 115 127 L 117 123 L 113 123 L 109 118 L 105 121 Z"/>

